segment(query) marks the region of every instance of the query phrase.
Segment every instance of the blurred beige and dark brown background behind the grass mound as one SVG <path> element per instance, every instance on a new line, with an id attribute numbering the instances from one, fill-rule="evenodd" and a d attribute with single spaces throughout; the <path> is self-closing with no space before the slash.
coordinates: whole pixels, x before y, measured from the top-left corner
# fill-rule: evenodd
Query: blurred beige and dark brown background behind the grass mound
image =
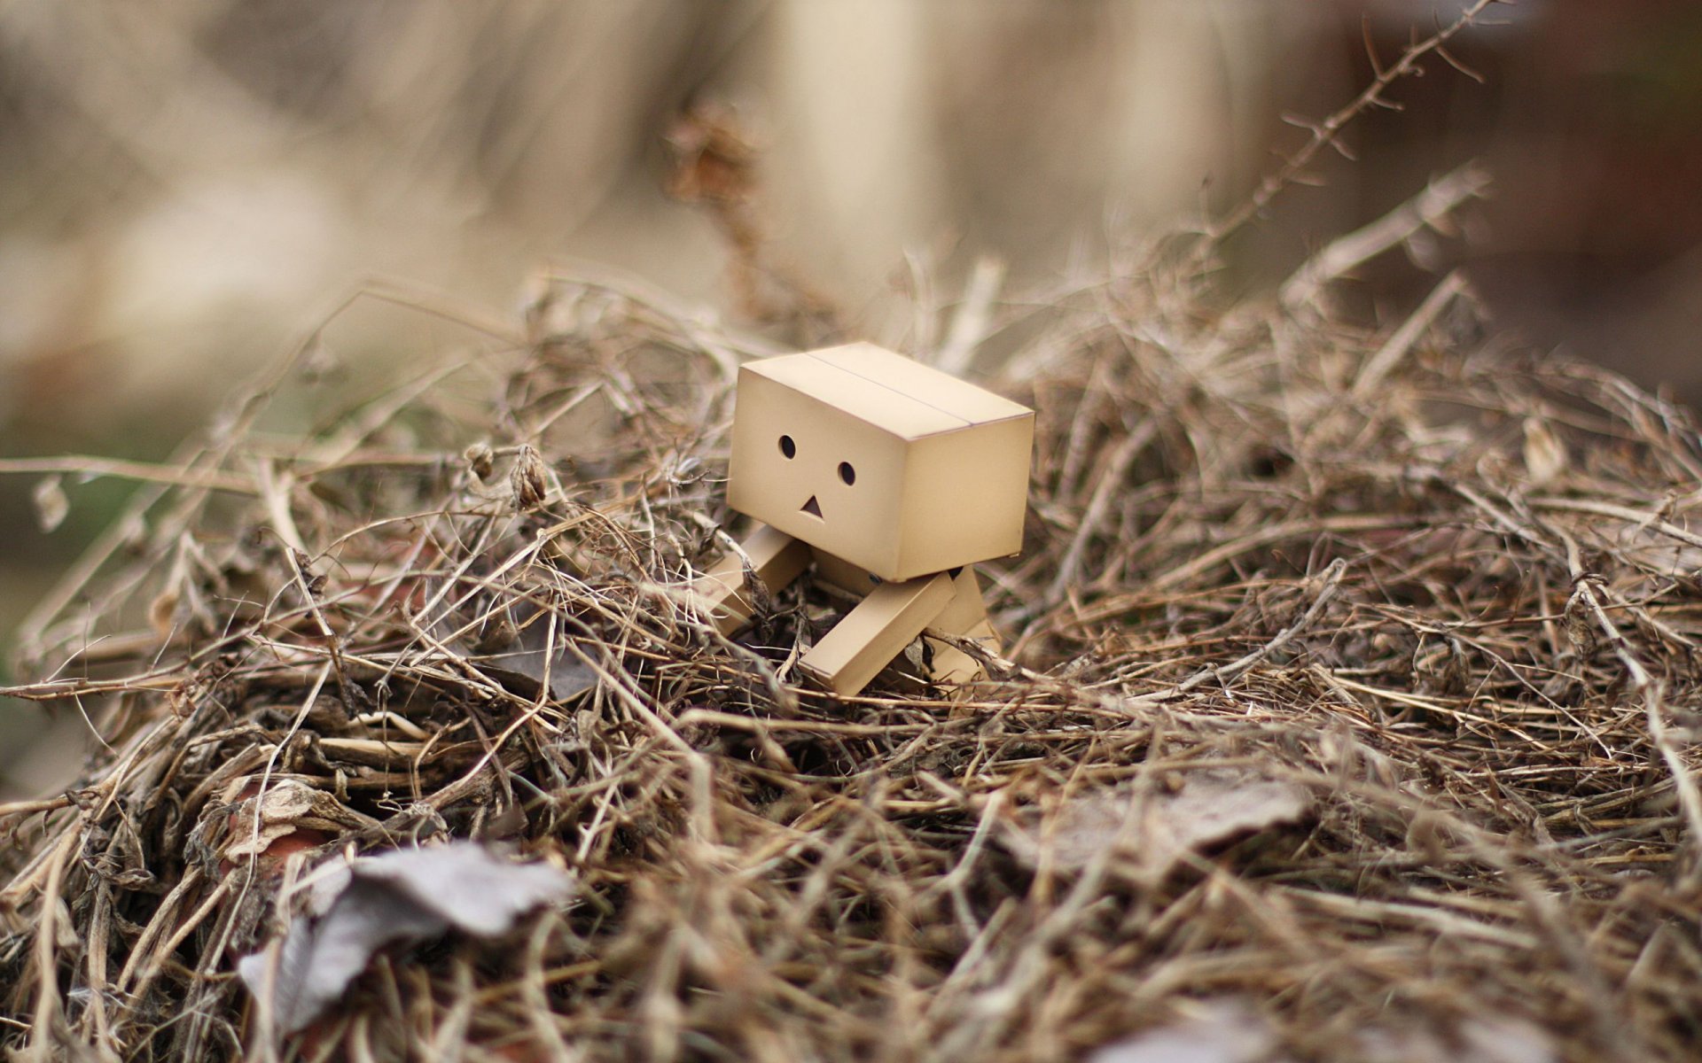
<path id="1" fill-rule="evenodd" d="M 7 0 L 0 458 L 160 459 L 371 279 L 502 318 L 541 265 L 584 260 L 761 327 L 742 240 L 897 342 L 916 276 L 955 294 L 992 255 L 1023 291 L 1227 209 L 1304 141 L 1285 116 L 1338 109 L 1370 53 L 1462 7 Z M 1496 196 L 1464 238 L 1367 270 L 1360 311 L 1404 316 L 1426 269 L 1464 264 L 1530 342 L 1702 398 L 1702 5 L 1518 0 L 1448 51 L 1348 131 L 1356 162 L 1331 153 L 1237 235 L 1234 284 L 1482 158 Z M 732 223 L 703 209 L 718 179 Z M 357 386 L 466 340 L 363 304 L 327 350 Z M 70 485 L 43 534 L 37 480 L 0 476 L 0 651 L 128 492 Z M 77 719 L 5 762 L 37 726 L 0 699 L 0 799 L 75 769 Z"/>

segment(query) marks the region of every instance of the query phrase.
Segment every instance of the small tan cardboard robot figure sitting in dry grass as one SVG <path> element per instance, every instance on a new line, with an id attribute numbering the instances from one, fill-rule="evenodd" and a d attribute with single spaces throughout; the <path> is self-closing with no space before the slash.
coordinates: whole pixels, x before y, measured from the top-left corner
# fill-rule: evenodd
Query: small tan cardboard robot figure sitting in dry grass
<path id="1" fill-rule="evenodd" d="M 814 563 L 861 599 L 800 662 L 837 694 L 926 629 L 997 651 L 970 566 L 1021 551 L 1033 434 L 1033 410 L 871 344 L 747 362 L 727 503 L 757 526 L 744 558 L 693 583 L 700 611 L 730 634 L 752 612 L 745 558 L 769 592 Z M 929 650 L 934 682 L 980 675 L 962 650 Z"/>

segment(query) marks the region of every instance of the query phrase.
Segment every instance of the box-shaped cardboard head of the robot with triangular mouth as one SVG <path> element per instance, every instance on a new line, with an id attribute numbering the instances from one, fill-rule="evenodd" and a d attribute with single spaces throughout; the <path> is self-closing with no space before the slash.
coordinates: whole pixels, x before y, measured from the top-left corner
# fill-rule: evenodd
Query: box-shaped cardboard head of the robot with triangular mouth
<path id="1" fill-rule="evenodd" d="M 883 580 L 1023 546 L 1035 413 L 871 344 L 739 369 L 727 503 Z"/>

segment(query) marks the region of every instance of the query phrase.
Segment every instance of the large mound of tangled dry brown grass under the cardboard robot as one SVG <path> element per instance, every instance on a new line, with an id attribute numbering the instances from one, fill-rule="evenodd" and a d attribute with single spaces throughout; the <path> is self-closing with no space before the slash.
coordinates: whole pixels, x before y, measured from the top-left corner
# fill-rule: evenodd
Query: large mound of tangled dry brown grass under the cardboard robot
<path id="1" fill-rule="evenodd" d="M 797 588 L 739 640 L 686 607 L 751 340 L 557 277 L 524 335 L 306 439 L 255 427 L 288 367 L 128 469 L 167 483 L 32 631 L 53 679 L 9 692 L 109 750 L 0 806 L 0 1044 L 1693 1058 L 1702 446 L 1452 279 L 1389 333 L 1311 310 L 1435 216 L 1231 313 L 1176 253 L 996 311 L 1031 520 L 958 701 L 797 685 L 836 607 Z M 257 845 L 284 784 L 311 808 Z M 380 952 L 284 1036 L 235 961 L 311 869 L 441 838 L 574 900 Z"/>

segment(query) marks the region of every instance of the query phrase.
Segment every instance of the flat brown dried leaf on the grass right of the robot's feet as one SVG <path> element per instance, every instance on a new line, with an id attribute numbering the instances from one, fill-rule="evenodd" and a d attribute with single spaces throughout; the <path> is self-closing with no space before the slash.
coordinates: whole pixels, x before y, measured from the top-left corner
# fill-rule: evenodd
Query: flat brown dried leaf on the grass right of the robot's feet
<path id="1" fill-rule="evenodd" d="M 1019 857 L 1048 852 L 1065 871 L 1086 867 L 1106 849 L 1134 856 L 1149 878 L 1164 878 L 1190 850 L 1239 833 L 1292 823 L 1311 808 L 1304 787 L 1244 772 L 1195 772 L 1174 794 L 1137 803 L 1127 789 L 1101 789 L 1069 799 L 1050 823 L 1008 833 Z"/>

